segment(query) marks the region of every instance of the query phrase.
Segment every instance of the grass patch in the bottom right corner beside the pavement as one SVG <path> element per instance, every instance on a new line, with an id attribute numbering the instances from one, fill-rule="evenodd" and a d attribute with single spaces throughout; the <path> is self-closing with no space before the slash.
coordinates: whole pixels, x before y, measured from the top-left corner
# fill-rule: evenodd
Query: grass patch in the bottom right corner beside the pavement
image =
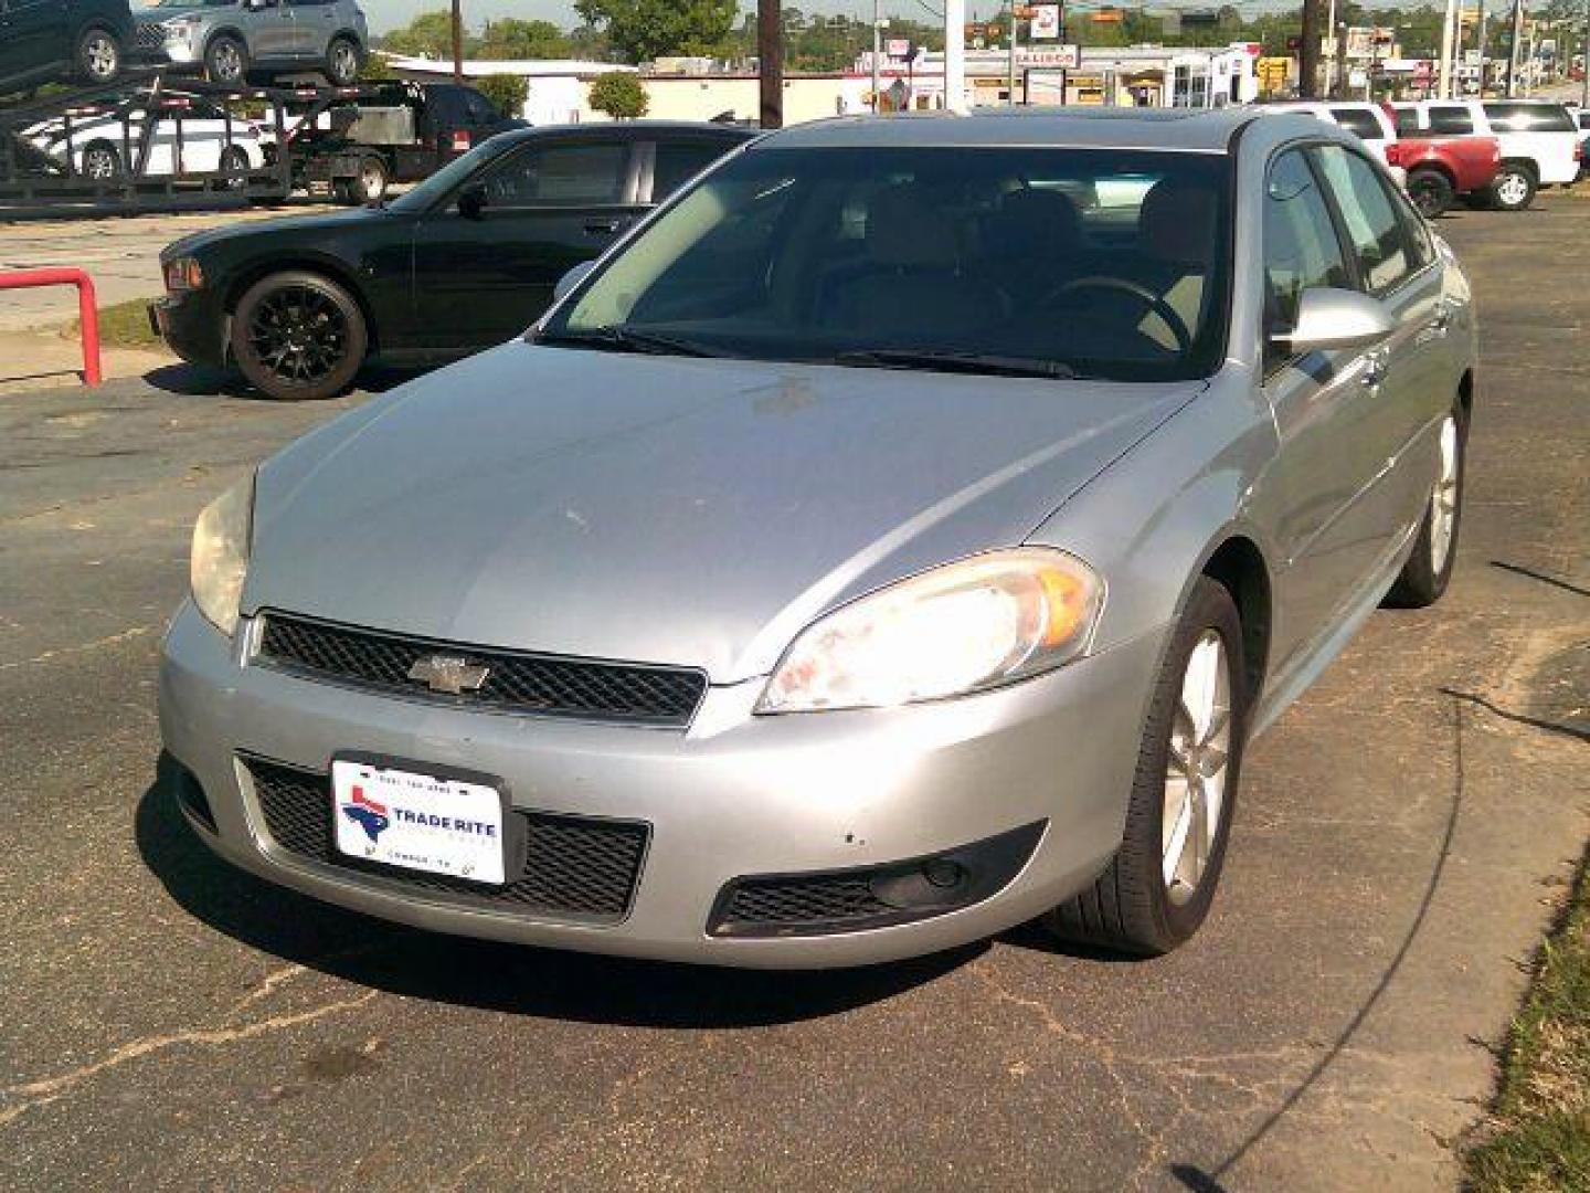
<path id="1" fill-rule="evenodd" d="M 1590 1190 L 1590 856 L 1541 945 L 1501 1088 L 1464 1163 L 1479 1193 Z"/>

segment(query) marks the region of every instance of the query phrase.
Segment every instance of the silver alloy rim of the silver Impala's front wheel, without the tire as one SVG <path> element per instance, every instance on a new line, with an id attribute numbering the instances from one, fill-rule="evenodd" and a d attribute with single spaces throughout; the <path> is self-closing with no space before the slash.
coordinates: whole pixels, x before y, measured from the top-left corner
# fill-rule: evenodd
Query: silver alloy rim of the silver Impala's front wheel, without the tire
<path id="1" fill-rule="evenodd" d="M 1226 641 L 1216 630 L 1204 630 L 1181 673 L 1165 762 L 1161 875 L 1175 905 L 1192 899 L 1208 869 L 1229 767 L 1231 666 Z"/>

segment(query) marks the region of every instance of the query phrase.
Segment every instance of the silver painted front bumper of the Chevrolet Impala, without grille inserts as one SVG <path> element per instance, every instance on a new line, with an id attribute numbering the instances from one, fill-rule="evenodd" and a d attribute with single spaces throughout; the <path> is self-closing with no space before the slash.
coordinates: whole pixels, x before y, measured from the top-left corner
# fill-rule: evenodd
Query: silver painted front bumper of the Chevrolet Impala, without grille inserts
<path id="1" fill-rule="evenodd" d="M 246 625 L 246 624 L 245 624 Z M 240 641 L 248 633 L 240 631 Z M 978 940 L 1092 881 L 1121 841 L 1143 711 L 1164 635 L 978 697 L 913 708 L 752 717 L 760 682 L 709 690 L 688 732 L 480 713 L 355 692 L 245 665 L 192 604 L 172 624 L 161 730 L 202 786 L 207 843 L 331 903 L 461 935 L 673 961 L 825 967 Z M 617 923 L 461 907 L 285 849 L 243 759 L 324 773 L 363 751 L 506 779 L 536 814 L 650 827 Z M 758 875 L 886 865 L 1026 826 L 1041 838 L 979 902 L 911 923 L 739 937 L 709 924 L 727 888 Z"/>

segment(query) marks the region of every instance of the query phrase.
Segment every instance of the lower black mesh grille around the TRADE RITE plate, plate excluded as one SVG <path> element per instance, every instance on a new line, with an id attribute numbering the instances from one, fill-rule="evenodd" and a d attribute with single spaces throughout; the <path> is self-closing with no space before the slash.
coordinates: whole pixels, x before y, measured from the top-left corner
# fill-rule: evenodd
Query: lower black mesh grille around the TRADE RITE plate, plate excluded
<path id="1" fill-rule="evenodd" d="M 442 902 L 507 907 L 585 923 L 615 924 L 628 915 L 634 899 L 650 837 L 646 824 L 514 810 L 510 818 L 520 821 L 522 834 L 504 826 L 504 837 L 525 840 L 525 864 L 515 875 L 515 851 L 510 849 L 509 883 L 482 886 L 348 857 L 334 845 L 328 775 L 262 759 L 245 759 L 245 765 L 272 840 L 301 857 L 359 870 L 399 891 L 423 891 Z"/>

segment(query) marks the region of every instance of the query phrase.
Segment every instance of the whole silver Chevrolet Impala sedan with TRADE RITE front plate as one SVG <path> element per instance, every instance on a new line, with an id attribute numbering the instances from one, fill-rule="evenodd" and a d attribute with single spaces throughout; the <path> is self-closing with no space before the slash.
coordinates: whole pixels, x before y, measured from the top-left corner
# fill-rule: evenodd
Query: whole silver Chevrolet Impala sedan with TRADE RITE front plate
<path id="1" fill-rule="evenodd" d="M 1452 574 L 1476 326 L 1302 116 L 838 119 L 199 520 L 175 797 L 445 932 L 1175 948 L 1243 746 Z"/>

